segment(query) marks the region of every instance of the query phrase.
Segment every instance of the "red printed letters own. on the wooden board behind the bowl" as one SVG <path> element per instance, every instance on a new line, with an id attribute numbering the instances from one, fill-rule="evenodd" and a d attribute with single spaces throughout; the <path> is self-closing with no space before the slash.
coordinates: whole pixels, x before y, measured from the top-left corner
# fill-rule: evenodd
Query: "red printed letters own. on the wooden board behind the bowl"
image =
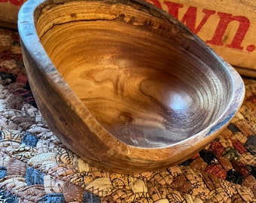
<path id="1" fill-rule="evenodd" d="M 160 2 L 158 0 L 146 0 L 146 1 L 157 6 L 158 8 L 161 8 Z M 178 12 L 181 8 L 184 7 L 184 5 L 181 5 L 175 2 L 167 2 L 167 1 L 163 1 L 163 4 L 166 5 L 168 9 L 167 12 L 170 15 L 172 15 L 172 17 L 175 17 L 176 19 L 178 19 Z M 216 45 L 216 46 L 224 46 L 224 47 L 228 47 L 236 50 L 243 50 L 244 47 L 242 47 L 241 44 L 250 26 L 250 21 L 248 20 L 247 17 L 233 16 L 232 14 L 226 14 L 226 13 L 221 13 L 217 11 L 203 9 L 202 11 L 204 15 L 203 19 L 196 26 L 197 12 L 198 12 L 197 7 L 190 6 L 187 8 L 187 11 L 185 11 L 183 17 L 181 17 L 181 19 L 178 19 L 178 20 L 180 20 L 181 23 L 184 23 L 184 25 L 186 25 L 191 32 L 194 32 L 195 34 L 197 34 L 198 32 L 200 32 L 200 29 L 202 29 L 202 27 L 206 24 L 206 22 L 209 20 L 210 17 L 217 15 L 218 25 L 215 29 L 215 32 L 212 35 L 212 38 L 209 40 L 206 40 L 206 43 Z M 230 25 L 231 22 L 238 23 L 238 26 L 236 28 L 236 32 L 230 44 L 224 44 L 222 39 L 224 38 L 224 34 L 227 30 L 227 27 Z M 255 49 L 255 46 L 253 44 L 248 45 L 248 47 L 246 47 L 246 50 L 248 52 L 251 52 L 254 49 Z"/>

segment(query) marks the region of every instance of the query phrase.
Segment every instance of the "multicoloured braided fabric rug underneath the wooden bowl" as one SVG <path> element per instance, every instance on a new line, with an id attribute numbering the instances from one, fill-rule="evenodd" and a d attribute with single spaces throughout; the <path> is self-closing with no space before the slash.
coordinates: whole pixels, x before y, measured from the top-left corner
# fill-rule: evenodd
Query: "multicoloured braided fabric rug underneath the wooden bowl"
<path id="1" fill-rule="evenodd" d="M 200 153 L 161 171 L 113 174 L 84 162 L 48 129 L 18 33 L 0 28 L 0 202 L 256 202 L 256 80 L 243 79 L 242 107 Z"/>

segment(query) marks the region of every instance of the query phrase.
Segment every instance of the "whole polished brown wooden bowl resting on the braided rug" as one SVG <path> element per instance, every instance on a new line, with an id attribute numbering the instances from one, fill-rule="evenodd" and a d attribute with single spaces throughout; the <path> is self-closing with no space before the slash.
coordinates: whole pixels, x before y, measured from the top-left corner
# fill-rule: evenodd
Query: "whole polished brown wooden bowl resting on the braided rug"
<path id="1" fill-rule="evenodd" d="M 138 0 L 30 0 L 19 14 L 29 83 L 50 129 L 109 171 L 177 164 L 242 103 L 237 72 Z"/>

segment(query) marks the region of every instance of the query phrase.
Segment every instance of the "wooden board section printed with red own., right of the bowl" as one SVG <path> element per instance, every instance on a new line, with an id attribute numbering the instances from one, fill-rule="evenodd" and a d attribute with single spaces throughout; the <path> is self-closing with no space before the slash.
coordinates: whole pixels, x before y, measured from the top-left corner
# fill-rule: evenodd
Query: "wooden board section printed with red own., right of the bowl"
<path id="1" fill-rule="evenodd" d="M 146 1 L 184 23 L 240 74 L 256 77 L 256 1 Z"/>

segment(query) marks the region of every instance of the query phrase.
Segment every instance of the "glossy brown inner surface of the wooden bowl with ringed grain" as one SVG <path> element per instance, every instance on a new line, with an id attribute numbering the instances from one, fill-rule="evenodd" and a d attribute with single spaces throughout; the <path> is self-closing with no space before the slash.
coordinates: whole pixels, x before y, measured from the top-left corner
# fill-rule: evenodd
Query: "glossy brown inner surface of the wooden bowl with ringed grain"
<path id="1" fill-rule="evenodd" d="M 48 4 L 35 14 L 41 44 L 59 74 L 126 144 L 183 141 L 230 103 L 230 76 L 221 62 L 165 17 L 104 1 Z"/>

